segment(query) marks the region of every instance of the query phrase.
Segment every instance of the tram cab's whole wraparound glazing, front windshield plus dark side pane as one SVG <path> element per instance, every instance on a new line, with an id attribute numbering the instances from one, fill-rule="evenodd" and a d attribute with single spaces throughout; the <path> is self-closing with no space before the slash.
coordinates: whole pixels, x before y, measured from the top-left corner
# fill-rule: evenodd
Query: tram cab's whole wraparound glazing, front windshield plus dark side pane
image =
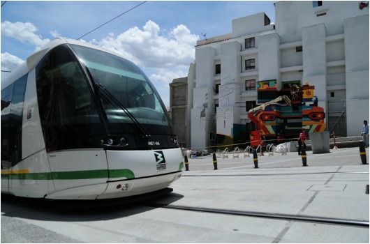
<path id="1" fill-rule="evenodd" d="M 89 75 L 99 88 L 89 84 Z M 100 147 L 105 135 L 173 135 L 149 79 L 118 56 L 60 45 L 36 66 L 36 86 L 47 151 Z"/>

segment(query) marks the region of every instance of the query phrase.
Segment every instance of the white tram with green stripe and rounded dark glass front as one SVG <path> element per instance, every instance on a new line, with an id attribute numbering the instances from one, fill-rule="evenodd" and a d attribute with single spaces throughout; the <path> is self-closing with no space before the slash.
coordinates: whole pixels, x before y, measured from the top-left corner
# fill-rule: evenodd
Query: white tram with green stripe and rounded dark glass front
<path id="1" fill-rule="evenodd" d="M 55 38 L 1 80 L 1 193 L 130 197 L 183 169 L 158 92 L 119 54 Z"/>

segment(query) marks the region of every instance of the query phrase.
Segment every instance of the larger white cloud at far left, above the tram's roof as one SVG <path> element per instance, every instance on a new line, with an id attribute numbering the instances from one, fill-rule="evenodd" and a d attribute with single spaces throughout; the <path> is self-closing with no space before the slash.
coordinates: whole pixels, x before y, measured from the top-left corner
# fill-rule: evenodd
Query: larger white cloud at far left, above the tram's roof
<path id="1" fill-rule="evenodd" d="M 4 36 L 12 37 L 19 40 L 21 43 L 28 43 L 35 45 L 36 49 L 40 49 L 50 42 L 50 39 L 43 39 L 42 36 L 36 35 L 38 29 L 34 24 L 29 22 L 2 22 L 1 23 L 1 34 Z"/>

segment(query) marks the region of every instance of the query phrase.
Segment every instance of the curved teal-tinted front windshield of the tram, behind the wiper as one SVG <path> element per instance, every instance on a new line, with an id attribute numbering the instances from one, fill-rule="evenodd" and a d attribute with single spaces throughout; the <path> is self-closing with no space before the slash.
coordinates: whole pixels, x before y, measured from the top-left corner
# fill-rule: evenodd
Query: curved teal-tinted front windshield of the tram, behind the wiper
<path id="1" fill-rule="evenodd" d="M 117 99 L 138 123 L 170 125 L 158 93 L 138 66 L 107 52 L 78 45 L 71 47 L 89 69 L 94 82 Z M 110 123 L 134 123 L 117 102 L 108 96 L 102 96 L 101 100 Z"/>

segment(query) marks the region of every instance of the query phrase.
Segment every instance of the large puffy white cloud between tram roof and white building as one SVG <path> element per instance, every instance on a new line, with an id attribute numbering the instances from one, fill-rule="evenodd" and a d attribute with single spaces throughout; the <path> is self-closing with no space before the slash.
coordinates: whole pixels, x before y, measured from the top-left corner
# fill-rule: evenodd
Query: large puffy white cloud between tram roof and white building
<path id="1" fill-rule="evenodd" d="M 199 36 L 191 34 L 184 24 L 166 33 L 149 20 L 142 29 L 134 26 L 117 37 L 109 33 L 107 37 L 90 43 L 117 52 L 143 68 L 168 107 L 169 84 L 172 79 L 187 76 L 189 63 L 195 59 L 197 40 Z M 150 73 L 147 72 L 149 69 Z"/>

